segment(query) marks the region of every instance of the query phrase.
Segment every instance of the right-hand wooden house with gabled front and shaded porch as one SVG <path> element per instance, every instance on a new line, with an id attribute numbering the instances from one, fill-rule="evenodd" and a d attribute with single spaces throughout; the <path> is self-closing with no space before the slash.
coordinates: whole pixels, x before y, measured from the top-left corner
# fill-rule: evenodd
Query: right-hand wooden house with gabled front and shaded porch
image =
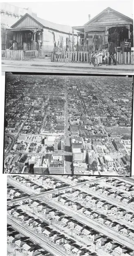
<path id="1" fill-rule="evenodd" d="M 133 19 L 111 9 L 101 11 L 97 16 L 89 20 L 83 26 L 72 27 L 79 31 L 77 34 L 78 50 L 92 51 L 98 49 L 108 50 L 109 41 L 119 51 L 130 51 L 133 47 Z"/>

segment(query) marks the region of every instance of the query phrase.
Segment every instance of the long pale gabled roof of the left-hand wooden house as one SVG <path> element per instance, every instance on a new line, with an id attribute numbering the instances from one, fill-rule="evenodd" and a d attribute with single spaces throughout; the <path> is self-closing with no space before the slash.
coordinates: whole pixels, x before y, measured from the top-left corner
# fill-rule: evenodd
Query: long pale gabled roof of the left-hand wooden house
<path id="1" fill-rule="evenodd" d="M 15 28 L 26 17 L 32 18 L 35 22 L 37 22 L 42 27 L 46 27 L 46 28 L 53 29 L 53 30 L 56 30 L 56 31 L 59 31 L 59 32 L 63 32 L 63 33 L 68 33 L 68 34 L 70 33 L 70 34 L 72 34 L 72 27 L 70 27 L 68 25 L 56 24 L 56 23 L 53 23 L 51 21 L 44 20 L 44 19 L 36 17 L 36 16 L 32 16 L 32 15 L 27 14 L 27 13 L 24 14 L 24 16 L 22 16 L 22 18 L 20 18 L 15 24 L 13 24 L 11 26 L 11 28 Z M 74 33 L 76 34 L 76 30 L 74 31 Z"/>

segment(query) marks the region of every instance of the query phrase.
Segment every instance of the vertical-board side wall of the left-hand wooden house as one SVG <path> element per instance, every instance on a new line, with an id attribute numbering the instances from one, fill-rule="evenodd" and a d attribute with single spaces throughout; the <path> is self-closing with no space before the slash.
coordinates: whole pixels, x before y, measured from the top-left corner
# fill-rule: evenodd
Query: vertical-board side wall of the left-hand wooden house
<path id="1" fill-rule="evenodd" d="M 54 41 L 53 41 L 53 30 L 51 29 L 43 29 L 43 44 L 42 44 L 42 49 L 44 49 L 46 52 L 52 52 L 54 48 Z M 72 31 L 70 31 L 72 33 Z M 63 36 L 63 48 L 66 49 L 66 38 L 69 38 L 68 34 L 64 34 L 62 32 L 56 32 L 54 31 L 55 34 L 55 42 L 56 45 L 58 45 L 59 37 Z M 74 36 L 75 43 L 77 43 L 77 36 Z M 70 41 L 72 41 L 72 35 L 70 35 Z M 59 45 L 58 45 L 59 46 Z"/>

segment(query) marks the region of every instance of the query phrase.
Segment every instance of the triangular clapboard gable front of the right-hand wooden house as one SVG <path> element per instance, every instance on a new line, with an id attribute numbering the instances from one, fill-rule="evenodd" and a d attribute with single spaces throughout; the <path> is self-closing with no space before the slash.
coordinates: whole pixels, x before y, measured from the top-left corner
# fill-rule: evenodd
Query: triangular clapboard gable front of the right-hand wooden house
<path id="1" fill-rule="evenodd" d="M 116 25 L 116 24 L 130 24 L 130 22 L 128 20 L 125 20 L 125 18 L 121 18 L 119 16 L 117 16 L 116 14 L 114 14 L 113 12 L 105 13 L 101 18 L 99 18 L 98 20 L 90 23 L 89 25 Z"/>

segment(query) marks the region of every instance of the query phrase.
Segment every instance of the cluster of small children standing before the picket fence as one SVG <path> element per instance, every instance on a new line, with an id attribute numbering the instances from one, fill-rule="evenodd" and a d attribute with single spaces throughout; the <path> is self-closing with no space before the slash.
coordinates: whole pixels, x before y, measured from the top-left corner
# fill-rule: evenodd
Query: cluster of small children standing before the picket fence
<path id="1" fill-rule="evenodd" d="M 93 63 L 94 67 L 102 66 L 102 60 L 105 61 L 106 59 L 107 57 L 103 54 L 102 49 L 96 52 L 92 51 L 90 64 Z"/>

